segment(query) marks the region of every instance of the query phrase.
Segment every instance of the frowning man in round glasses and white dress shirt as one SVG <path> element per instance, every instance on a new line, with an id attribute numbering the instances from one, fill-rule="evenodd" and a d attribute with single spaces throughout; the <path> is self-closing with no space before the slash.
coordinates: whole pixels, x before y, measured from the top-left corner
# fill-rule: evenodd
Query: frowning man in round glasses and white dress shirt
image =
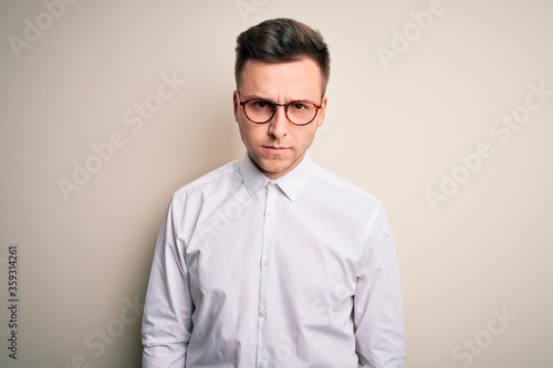
<path id="1" fill-rule="evenodd" d="M 399 273 L 380 203 L 314 165 L 330 75 L 321 34 L 238 36 L 247 155 L 179 189 L 144 309 L 143 367 L 404 367 Z"/>

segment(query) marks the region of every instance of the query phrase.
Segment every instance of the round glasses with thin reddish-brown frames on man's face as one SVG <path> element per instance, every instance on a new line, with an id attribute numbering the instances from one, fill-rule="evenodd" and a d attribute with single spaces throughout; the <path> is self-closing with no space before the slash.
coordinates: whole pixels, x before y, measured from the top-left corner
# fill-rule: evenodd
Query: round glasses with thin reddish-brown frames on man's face
<path id="1" fill-rule="evenodd" d="M 238 92 L 238 96 L 240 97 L 240 92 Z M 288 120 L 296 126 L 304 126 L 313 122 L 321 108 L 321 105 L 304 99 L 291 101 L 288 104 L 276 104 L 264 98 L 242 101 L 240 97 L 240 105 L 246 117 L 254 124 L 268 123 L 273 118 L 276 106 L 283 106 Z"/>

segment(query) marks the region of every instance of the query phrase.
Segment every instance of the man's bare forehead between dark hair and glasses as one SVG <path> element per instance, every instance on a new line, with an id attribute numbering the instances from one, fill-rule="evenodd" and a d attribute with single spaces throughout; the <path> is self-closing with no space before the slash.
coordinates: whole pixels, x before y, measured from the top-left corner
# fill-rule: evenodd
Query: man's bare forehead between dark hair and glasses
<path id="1" fill-rule="evenodd" d="M 240 93 L 267 98 L 320 98 L 323 77 L 311 59 L 286 63 L 249 60 L 241 73 Z"/>

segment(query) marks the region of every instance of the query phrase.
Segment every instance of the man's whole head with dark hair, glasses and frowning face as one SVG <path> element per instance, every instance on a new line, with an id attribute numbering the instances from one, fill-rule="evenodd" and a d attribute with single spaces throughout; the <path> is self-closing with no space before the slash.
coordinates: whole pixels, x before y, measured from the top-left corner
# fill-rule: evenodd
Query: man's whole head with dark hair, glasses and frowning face
<path id="1" fill-rule="evenodd" d="M 234 118 L 250 159 L 275 179 L 301 162 L 323 124 L 328 49 L 290 19 L 252 27 L 237 43 Z"/>

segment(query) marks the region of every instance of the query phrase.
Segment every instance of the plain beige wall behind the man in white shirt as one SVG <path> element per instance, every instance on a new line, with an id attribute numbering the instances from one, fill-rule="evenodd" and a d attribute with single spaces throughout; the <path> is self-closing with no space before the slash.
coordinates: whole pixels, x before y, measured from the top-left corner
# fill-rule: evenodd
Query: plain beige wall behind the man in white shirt
<path id="1" fill-rule="evenodd" d="M 326 125 L 311 151 L 387 208 L 407 367 L 553 367 L 553 95 L 524 107 L 530 85 L 553 91 L 553 2 L 83 0 L 56 18 L 44 3 L 0 2 L 1 367 L 139 366 L 127 305 L 144 301 L 159 221 L 178 187 L 242 155 L 236 36 L 281 15 L 330 44 Z M 410 13 L 429 8 L 431 24 L 416 25 Z M 44 30 L 28 30 L 23 48 L 30 23 Z M 156 106 L 163 75 L 186 84 Z M 145 102 L 156 112 L 139 127 L 125 114 Z M 507 133 L 504 114 L 524 123 Z M 114 132 L 124 144 L 90 158 Z M 459 155 L 482 141 L 493 155 L 463 169 Z M 65 199 L 59 180 L 87 159 L 101 167 Z M 465 182 L 442 183 L 432 207 L 442 175 Z M 17 361 L 6 348 L 13 243 Z"/>

